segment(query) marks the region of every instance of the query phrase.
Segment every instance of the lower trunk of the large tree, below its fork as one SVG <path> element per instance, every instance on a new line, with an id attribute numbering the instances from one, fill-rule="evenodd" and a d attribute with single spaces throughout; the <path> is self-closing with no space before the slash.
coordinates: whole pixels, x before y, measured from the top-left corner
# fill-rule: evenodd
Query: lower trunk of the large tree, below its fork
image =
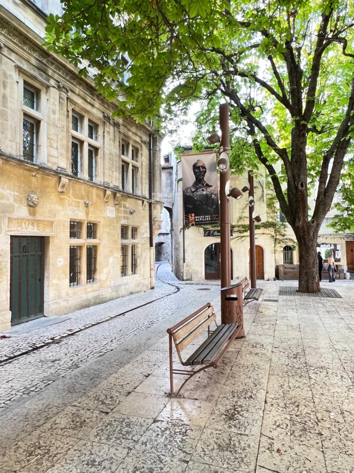
<path id="1" fill-rule="evenodd" d="M 299 245 L 299 292 L 320 292 L 320 278 L 317 258 L 318 230 L 296 232 Z"/>

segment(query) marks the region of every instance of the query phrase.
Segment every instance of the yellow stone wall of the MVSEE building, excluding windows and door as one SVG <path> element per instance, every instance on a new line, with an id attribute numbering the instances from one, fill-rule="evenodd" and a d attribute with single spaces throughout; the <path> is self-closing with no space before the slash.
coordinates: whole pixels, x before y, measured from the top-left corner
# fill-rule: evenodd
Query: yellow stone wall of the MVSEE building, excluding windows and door
<path id="1" fill-rule="evenodd" d="M 14 4 L 14 2 L 11 2 Z M 29 7 L 28 18 L 34 22 Z M 25 15 L 25 11 L 23 12 Z M 31 16 L 32 15 L 32 16 Z M 38 24 L 43 19 L 36 18 Z M 31 24 L 32 24 L 31 20 Z M 44 23 L 43 23 L 44 24 Z M 42 26 L 43 29 L 43 26 Z M 116 105 L 98 96 L 90 79 L 79 79 L 77 71 L 62 58 L 47 53 L 42 39 L 8 10 L 0 7 L 0 331 L 10 327 L 10 235 L 45 237 L 44 315 L 62 315 L 106 302 L 154 285 L 154 252 L 149 239 L 149 133 L 148 123 L 131 119 L 112 120 Z M 37 91 L 37 109 L 23 105 L 24 82 Z M 81 132 L 71 129 L 72 113 L 81 116 Z M 23 159 L 23 116 L 39 124 L 35 163 Z M 96 124 L 96 139 L 88 139 L 88 121 Z M 71 141 L 81 145 L 79 177 L 71 175 Z M 133 166 L 128 159 L 127 189 L 121 189 L 121 143 L 137 149 L 136 193 L 131 193 Z M 88 181 L 87 152 L 96 149 L 95 182 Z M 160 228 L 160 138 L 152 143 L 153 235 Z M 29 207 L 27 195 L 38 196 L 38 206 Z M 109 216 L 109 215 L 114 215 Z M 22 220 L 18 220 L 22 219 Z M 70 220 L 83 225 L 81 284 L 69 287 Z M 43 230 L 43 222 L 48 228 Z M 87 221 L 98 226 L 94 242 L 84 239 Z M 17 222 L 19 222 L 17 224 Z M 37 222 L 36 229 L 21 230 Z M 38 222 L 42 222 L 41 224 Z M 121 225 L 138 228 L 138 271 L 120 276 Z M 17 226 L 17 227 L 16 227 Z M 38 233 L 38 228 L 40 228 Z M 37 233 L 35 233 L 37 232 Z M 47 233 L 46 233 L 47 232 Z M 125 242 L 130 248 L 131 242 Z M 85 245 L 97 245 L 96 282 L 86 284 Z M 130 250 L 129 250 L 130 251 Z"/>

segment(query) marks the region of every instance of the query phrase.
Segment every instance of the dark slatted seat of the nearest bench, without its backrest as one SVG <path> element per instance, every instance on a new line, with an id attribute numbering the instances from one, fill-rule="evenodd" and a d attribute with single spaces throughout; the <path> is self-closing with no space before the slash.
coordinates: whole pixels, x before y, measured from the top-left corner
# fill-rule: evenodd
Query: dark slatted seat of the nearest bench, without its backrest
<path id="1" fill-rule="evenodd" d="M 202 343 L 202 345 L 194 351 L 194 353 L 186 360 L 188 365 L 210 364 L 222 347 L 229 335 L 236 330 L 237 324 L 219 325 L 218 332 L 216 331 Z M 211 356 L 211 353 L 213 355 Z M 205 360 L 208 361 L 205 363 Z"/>

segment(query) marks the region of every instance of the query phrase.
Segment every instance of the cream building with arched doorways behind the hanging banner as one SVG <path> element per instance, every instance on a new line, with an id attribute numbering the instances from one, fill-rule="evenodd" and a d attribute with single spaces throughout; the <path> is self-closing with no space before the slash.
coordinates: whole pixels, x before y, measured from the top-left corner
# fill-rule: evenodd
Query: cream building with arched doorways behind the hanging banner
<path id="1" fill-rule="evenodd" d="M 184 147 L 184 154 L 192 152 Z M 265 173 L 260 171 L 254 180 L 255 211 L 261 219 L 267 219 Z M 178 279 L 204 280 L 220 279 L 220 236 L 219 228 L 183 228 L 183 193 L 181 161 L 172 155 L 169 166 L 162 166 L 162 200 L 165 207 L 171 206 L 172 219 L 172 268 Z M 242 188 L 247 184 L 247 174 L 231 176 L 230 187 Z M 248 194 L 240 200 L 230 199 L 231 260 L 233 278 L 249 274 L 249 235 L 241 236 L 237 226 L 248 224 Z M 256 263 L 259 279 L 275 277 L 274 240 L 271 230 L 256 231 Z"/>

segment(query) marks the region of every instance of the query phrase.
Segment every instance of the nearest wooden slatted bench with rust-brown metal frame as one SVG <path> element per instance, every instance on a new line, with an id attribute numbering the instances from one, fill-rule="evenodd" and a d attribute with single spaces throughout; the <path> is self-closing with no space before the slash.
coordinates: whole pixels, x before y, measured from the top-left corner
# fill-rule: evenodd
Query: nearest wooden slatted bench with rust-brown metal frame
<path id="1" fill-rule="evenodd" d="M 210 326 L 215 322 L 216 329 L 211 332 Z M 185 361 L 182 359 L 182 351 L 192 343 L 198 335 L 208 329 L 208 337 Z M 188 315 L 178 324 L 167 330 L 169 333 L 169 374 L 170 395 L 177 397 L 185 383 L 197 373 L 206 368 L 218 368 L 220 361 L 224 358 L 231 343 L 235 340 L 240 326 L 238 324 L 217 325 L 214 308 L 210 302 L 200 309 Z M 183 366 L 202 366 L 195 371 L 173 368 L 172 340 L 175 343 L 179 361 Z M 173 375 L 186 375 L 175 396 L 173 390 Z"/>

